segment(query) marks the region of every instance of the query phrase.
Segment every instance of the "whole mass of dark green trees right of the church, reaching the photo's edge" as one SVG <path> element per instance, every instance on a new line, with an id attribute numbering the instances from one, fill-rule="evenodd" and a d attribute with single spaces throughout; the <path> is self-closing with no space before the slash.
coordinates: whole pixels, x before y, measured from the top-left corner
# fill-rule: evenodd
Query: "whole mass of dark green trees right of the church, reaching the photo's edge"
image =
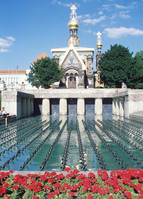
<path id="1" fill-rule="evenodd" d="M 141 52 L 133 58 L 128 48 L 117 44 L 111 46 L 99 61 L 101 80 L 105 87 L 120 88 L 124 82 L 128 88 L 143 88 L 143 51 Z"/>

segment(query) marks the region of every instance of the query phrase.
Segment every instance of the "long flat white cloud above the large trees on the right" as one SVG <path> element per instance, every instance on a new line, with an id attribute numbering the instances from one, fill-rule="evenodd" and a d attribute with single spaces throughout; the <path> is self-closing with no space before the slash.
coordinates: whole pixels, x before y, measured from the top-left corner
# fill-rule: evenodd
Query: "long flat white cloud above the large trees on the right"
<path id="1" fill-rule="evenodd" d="M 139 30 L 136 28 L 106 28 L 104 29 L 104 33 L 107 34 L 110 38 L 119 38 L 121 36 L 133 35 L 133 36 L 140 36 L 143 35 L 143 30 Z"/>

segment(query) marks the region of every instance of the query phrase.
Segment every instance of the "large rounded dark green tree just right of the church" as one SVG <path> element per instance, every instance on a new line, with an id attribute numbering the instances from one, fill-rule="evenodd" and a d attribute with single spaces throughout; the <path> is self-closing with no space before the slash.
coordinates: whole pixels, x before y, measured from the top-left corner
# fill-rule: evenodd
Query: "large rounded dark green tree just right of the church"
<path id="1" fill-rule="evenodd" d="M 128 48 L 117 44 L 111 46 L 99 61 L 101 80 L 105 87 L 120 88 L 123 82 L 130 87 L 129 71 L 132 61 L 132 53 Z"/>

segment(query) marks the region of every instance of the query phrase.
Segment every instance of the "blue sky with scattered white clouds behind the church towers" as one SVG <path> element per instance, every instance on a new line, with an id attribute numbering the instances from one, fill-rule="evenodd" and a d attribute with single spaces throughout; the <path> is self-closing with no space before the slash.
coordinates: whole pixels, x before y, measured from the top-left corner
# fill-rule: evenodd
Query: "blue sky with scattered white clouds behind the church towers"
<path id="1" fill-rule="evenodd" d="M 0 0 L 0 70 L 27 69 L 42 53 L 67 47 L 70 7 L 75 4 L 81 47 L 102 52 L 121 44 L 143 50 L 143 0 Z"/>

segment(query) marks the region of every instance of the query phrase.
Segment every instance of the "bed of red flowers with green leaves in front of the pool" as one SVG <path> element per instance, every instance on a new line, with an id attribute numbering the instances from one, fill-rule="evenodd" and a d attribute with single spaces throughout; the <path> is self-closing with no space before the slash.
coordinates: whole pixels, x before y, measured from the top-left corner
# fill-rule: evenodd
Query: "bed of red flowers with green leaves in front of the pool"
<path id="1" fill-rule="evenodd" d="M 48 198 L 140 198 L 143 199 L 143 170 L 99 170 L 97 176 L 66 168 L 66 175 L 56 172 L 13 175 L 13 171 L 0 172 L 1 199 Z"/>

